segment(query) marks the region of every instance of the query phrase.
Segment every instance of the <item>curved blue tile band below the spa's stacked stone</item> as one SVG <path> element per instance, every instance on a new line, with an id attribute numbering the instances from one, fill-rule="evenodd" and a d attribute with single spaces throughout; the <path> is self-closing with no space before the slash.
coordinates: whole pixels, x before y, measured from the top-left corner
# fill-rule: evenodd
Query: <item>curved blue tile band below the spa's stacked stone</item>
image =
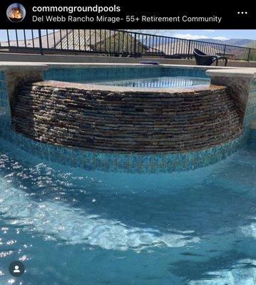
<path id="1" fill-rule="evenodd" d="M 140 155 L 135 153 L 92 152 L 48 145 L 14 133 L 10 129 L 2 131 L 1 135 L 4 139 L 19 145 L 22 150 L 29 151 L 32 155 L 41 157 L 43 160 L 81 167 L 85 170 L 132 173 L 195 170 L 223 160 L 244 143 L 240 138 L 217 147 L 195 152 Z"/>

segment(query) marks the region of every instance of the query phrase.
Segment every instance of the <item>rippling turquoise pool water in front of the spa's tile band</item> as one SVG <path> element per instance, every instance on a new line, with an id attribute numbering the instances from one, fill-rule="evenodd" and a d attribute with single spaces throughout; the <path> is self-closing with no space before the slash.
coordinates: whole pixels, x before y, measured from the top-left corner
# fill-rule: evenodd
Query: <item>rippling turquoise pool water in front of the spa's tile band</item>
<path id="1" fill-rule="evenodd" d="M 255 284 L 255 170 L 243 149 L 193 172 L 86 172 L 0 140 L 0 284 Z"/>

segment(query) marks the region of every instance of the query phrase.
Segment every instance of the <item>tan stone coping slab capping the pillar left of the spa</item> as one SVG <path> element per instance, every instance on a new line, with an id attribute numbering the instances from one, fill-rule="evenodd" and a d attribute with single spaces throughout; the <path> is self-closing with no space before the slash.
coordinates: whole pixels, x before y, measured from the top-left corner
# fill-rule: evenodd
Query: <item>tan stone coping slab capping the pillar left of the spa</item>
<path id="1" fill-rule="evenodd" d="M 0 71 L 46 71 L 49 66 L 43 63 L 25 63 L 25 62 L 11 62 L 1 61 Z"/>

